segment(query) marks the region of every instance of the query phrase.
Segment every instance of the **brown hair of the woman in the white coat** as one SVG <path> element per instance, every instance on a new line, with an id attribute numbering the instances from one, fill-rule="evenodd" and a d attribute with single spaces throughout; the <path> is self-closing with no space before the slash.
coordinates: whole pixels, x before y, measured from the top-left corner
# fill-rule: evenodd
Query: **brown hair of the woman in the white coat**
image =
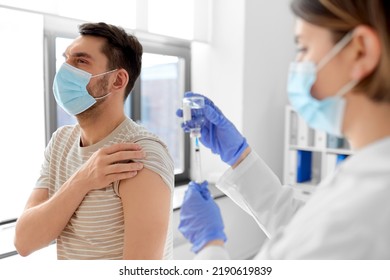
<path id="1" fill-rule="evenodd" d="M 390 102 L 390 1 L 292 0 L 293 13 L 333 34 L 334 42 L 359 25 L 375 30 L 381 42 L 377 68 L 355 88 L 378 102 Z"/>

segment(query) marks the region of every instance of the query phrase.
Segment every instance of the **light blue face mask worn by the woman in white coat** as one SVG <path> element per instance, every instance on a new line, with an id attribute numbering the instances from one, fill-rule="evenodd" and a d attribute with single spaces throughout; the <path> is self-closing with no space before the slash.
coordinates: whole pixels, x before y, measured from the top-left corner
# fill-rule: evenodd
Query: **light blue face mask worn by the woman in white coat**
<path id="1" fill-rule="evenodd" d="M 345 111 L 343 96 L 354 88 L 358 81 L 350 81 L 334 96 L 317 100 L 311 95 L 318 71 L 337 55 L 352 39 L 352 32 L 342 38 L 330 52 L 316 64 L 312 61 L 292 62 L 289 69 L 287 92 L 290 103 L 306 123 L 318 130 L 342 136 Z M 331 82 L 331 81 L 330 81 Z"/>

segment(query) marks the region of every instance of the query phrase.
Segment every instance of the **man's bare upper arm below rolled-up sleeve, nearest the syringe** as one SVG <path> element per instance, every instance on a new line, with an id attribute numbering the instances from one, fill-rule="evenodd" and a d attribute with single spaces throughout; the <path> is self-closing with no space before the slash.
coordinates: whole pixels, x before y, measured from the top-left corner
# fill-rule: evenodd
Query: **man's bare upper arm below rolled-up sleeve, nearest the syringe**
<path id="1" fill-rule="evenodd" d="M 144 168 L 120 182 L 125 236 L 124 259 L 162 259 L 171 210 L 171 190 L 159 174 Z"/>

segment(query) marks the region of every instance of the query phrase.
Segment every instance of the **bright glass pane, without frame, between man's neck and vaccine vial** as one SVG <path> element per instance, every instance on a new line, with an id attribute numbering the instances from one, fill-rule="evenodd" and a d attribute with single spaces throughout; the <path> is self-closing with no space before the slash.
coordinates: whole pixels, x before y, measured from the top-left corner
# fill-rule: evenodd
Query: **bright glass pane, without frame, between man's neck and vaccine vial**
<path id="1" fill-rule="evenodd" d="M 175 173 L 183 173 L 184 136 L 175 111 L 185 91 L 184 58 L 145 53 L 142 63 L 140 122 L 168 145 Z"/>

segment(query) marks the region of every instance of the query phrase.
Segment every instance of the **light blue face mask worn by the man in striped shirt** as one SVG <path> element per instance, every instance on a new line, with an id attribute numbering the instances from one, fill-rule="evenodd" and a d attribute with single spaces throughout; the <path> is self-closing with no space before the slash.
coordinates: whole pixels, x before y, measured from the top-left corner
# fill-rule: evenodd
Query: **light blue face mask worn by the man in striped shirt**
<path id="1" fill-rule="evenodd" d="M 97 98 L 92 97 L 87 91 L 87 85 L 91 78 L 106 75 L 114 71 L 116 69 L 92 76 L 92 74 L 73 67 L 68 63 L 62 64 L 54 77 L 53 83 L 53 92 L 57 104 L 73 116 L 86 111 L 97 100 L 105 98 L 110 94 L 107 93 Z"/>

